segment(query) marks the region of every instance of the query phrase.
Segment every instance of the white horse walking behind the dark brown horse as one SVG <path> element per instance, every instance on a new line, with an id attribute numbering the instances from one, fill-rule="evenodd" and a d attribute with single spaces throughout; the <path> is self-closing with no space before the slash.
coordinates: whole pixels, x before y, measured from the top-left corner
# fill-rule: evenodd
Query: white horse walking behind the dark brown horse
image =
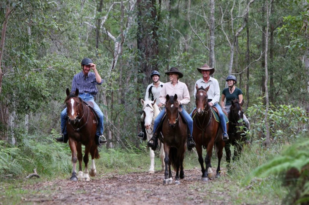
<path id="1" fill-rule="evenodd" d="M 160 113 L 159 107 L 155 103 L 155 101 L 150 101 L 150 100 L 144 101 L 143 99 L 141 99 L 141 103 L 143 106 L 143 115 L 145 118 L 147 141 L 149 141 L 152 138 L 153 131 L 154 131 L 153 129 L 154 129 L 155 118 Z M 154 174 L 155 173 L 155 152 L 151 148 L 149 148 L 149 150 L 150 150 L 150 168 L 148 170 L 148 173 Z M 162 161 L 162 170 L 165 170 L 165 163 L 164 163 L 165 153 L 163 149 L 163 143 L 161 143 L 160 158 Z"/>

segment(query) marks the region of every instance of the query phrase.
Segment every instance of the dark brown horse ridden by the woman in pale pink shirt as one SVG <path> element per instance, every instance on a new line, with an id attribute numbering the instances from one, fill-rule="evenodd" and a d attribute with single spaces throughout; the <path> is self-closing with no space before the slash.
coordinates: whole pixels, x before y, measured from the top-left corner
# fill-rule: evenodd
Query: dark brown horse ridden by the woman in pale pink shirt
<path id="1" fill-rule="evenodd" d="M 181 107 L 177 101 L 177 95 L 166 95 L 165 110 L 167 117 L 163 121 L 163 145 L 165 152 L 165 173 L 163 184 L 172 184 L 173 176 L 171 165 L 176 169 L 175 184 L 180 184 L 179 178 L 184 178 L 184 151 L 187 139 L 187 125 L 180 116 Z M 161 141 L 162 142 L 162 141 Z M 168 169 L 167 169 L 168 166 Z M 179 174 L 180 169 L 180 174 Z"/>

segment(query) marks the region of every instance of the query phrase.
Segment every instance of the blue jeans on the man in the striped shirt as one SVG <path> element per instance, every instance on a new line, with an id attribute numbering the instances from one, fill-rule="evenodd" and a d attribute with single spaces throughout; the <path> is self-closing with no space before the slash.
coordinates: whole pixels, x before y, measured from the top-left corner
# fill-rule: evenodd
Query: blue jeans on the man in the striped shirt
<path id="1" fill-rule="evenodd" d="M 95 99 L 94 96 L 90 93 L 80 93 L 78 94 L 78 97 L 82 98 L 84 101 L 91 101 L 93 102 L 93 109 L 96 111 L 96 113 L 99 116 L 99 122 L 98 122 L 98 128 L 97 131 L 95 133 L 95 135 L 100 136 L 103 134 L 104 131 L 104 115 L 103 112 L 101 111 L 101 109 L 99 108 L 99 106 L 95 103 Z M 61 112 L 61 132 L 63 131 L 63 128 L 66 126 L 66 117 L 67 117 L 67 112 L 66 112 L 66 108 L 64 108 L 64 110 Z M 63 134 L 66 135 L 66 128 L 63 131 Z"/>

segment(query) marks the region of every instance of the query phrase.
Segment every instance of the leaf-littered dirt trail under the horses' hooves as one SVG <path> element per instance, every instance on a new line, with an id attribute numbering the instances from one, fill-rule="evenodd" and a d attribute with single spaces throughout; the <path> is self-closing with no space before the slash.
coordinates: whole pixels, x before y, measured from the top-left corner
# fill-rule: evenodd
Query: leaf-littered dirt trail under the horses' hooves
<path id="1" fill-rule="evenodd" d="M 215 171 L 215 170 L 213 170 Z M 175 172 L 173 172 L 175 176 Z M 33 204 L 231 204 L 218 191 L 201 190 L 217 179 L 201 182 L 200 169 L 185 170 L 180 185 L 163 186 L 164 173 L 129 173 L 96 176 L 90 182 L 53 180 L 34 184 L 25 189 L 40 191 L 23 198 Z M 206 189 L 207 190 L 207 189 Z"/>

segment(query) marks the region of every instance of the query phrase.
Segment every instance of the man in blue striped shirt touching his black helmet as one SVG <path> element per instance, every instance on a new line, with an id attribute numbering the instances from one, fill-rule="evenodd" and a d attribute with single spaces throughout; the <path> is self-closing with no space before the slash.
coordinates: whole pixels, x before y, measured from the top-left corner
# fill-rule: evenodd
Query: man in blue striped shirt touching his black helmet
<path id="1" fill-rule="evenodd" d="M 76 88 L 79 90 L 78 97 L 82 98 L 84 101 L 90 101 L 93 103 L 93 108 L 99 116 L 98 128 L 95 134 L 96 144 L 106 144 L 106 139 L 102 135 L 104 124 L 103 124 L 103 112 L 99 106 L 95 103 L 94 97 L 98 93 L 96 85 L 101 85 L 103 80 L 99 75 L 96 65 L 92 62 L 90 58 L 84 58 L 81 62 L 82 71 L 74 75 L 72 81 L 72 92 L 75 92 Z M 93 72 L 90 72 L 93 70 Z M 66 131 L 66 108 L 61 112 L 61 137 L 57 138 L 58 142 L 66 143 L 68 141 L 68 134 Z"/>

